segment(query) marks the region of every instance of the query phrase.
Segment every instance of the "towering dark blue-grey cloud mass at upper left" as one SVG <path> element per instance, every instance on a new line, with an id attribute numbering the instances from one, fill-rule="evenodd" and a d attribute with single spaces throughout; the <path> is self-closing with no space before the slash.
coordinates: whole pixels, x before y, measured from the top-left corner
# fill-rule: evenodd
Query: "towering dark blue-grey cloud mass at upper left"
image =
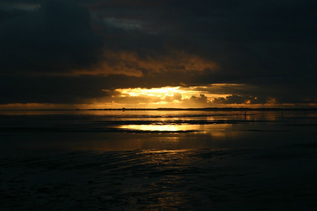
<path id="1" fill-rule="evenodd" d="M 91 28 L 86 8 L 49 1 L 32 12 L 1 13 L 2 74 L 69 71 L 87 67 L 99 57 L 102 42 Z"/>

